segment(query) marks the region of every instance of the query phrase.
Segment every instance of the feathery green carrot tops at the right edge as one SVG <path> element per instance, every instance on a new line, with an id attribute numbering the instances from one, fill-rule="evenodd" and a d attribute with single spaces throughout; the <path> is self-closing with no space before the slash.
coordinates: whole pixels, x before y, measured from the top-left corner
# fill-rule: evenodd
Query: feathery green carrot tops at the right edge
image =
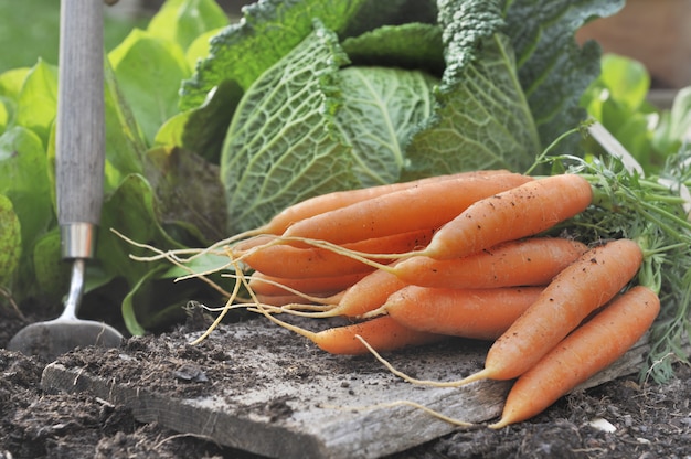
<path id="1" fill-rule="evenodd" d="M 584 160 L 573 156 L 543 156 L 553 173 L 577 173 L 591 182 L 592 205 L 554 231 L 567 231 L 586 241 L 630 238 L 644 249 L 637 284 L 661 299 L 661 312 L 652 327 L 648 366 L 652 377 L 665 381 L 676 359 L 689 361 L 691 317 L 691 222 L 687 185 L 691 184 L 684 146 L 668 158 L 658 175 L 641 177 L 612 157 Z M 685 349 L 684 349 L 685 348 Z"/>

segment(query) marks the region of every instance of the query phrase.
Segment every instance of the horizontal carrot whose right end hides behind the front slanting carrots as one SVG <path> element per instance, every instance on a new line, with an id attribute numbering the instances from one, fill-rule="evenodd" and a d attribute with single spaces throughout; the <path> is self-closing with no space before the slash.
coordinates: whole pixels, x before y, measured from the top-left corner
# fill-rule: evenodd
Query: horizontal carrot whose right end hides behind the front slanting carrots
<path id="1" fill-rule="evenodd" d="M 543 287 L 451 289 L 408 286 L 382 310 L 419 331 L 496 340 L 530 307 Z"/>

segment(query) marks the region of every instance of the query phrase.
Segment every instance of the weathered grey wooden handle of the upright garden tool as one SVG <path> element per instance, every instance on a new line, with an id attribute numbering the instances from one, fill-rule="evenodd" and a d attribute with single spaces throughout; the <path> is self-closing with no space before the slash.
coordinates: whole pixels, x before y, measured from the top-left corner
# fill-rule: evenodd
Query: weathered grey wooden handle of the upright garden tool
<path id="1" fill-rule="evenodd" d="M 105 121 L 103 0 L 62 0 L 55 180 L 61 225 L 97 225 Z"/>

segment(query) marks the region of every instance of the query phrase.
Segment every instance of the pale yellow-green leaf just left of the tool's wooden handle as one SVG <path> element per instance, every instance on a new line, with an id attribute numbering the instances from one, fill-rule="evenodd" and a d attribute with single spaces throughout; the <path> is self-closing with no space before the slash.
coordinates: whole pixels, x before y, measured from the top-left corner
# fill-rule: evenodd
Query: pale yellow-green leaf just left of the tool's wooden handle
<path id="1" fill-rule="evenodd" d="M 19 93 L 15 122 L 34 131 L 43 145 L 47 145 L 56 114 L 57 67 L 39 60 Z"/>

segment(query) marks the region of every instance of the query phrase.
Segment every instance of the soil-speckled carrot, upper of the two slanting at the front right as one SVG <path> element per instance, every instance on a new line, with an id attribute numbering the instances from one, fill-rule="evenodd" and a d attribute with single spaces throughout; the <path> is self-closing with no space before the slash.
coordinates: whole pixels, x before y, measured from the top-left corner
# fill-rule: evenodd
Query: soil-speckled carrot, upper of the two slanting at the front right
<path id="1" fill-rule="evenodd" d="M 525 373 L 591 312 L 609 301 L 636 275 L 642 252 L 616 239 L 586 252 L 560 273 L 540 298 L 490 348 L 477 380 L 511 380 Z"/>

